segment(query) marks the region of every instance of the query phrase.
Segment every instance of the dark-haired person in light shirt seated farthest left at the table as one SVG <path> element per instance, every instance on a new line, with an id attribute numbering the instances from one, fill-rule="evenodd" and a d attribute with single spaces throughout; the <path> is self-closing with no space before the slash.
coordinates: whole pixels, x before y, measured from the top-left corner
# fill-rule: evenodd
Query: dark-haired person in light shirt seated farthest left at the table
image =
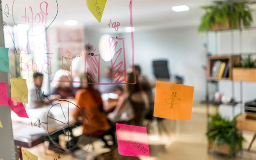
<path id="1" fill-rule="evenodd" d="M 33 80 L 34 83 L 30 86 L 28 90 L 28 104 L 26 105 L 27 108 L 38 108 L 45 105 L 49 105 L 49 100 L 59 99 L 60 97 L 57 95 L 51 95 L 45 98 L 43 92 L 41 91 L 41 87 L 43 84 L 43 75 L 41 73 L 34 73 Z"/>

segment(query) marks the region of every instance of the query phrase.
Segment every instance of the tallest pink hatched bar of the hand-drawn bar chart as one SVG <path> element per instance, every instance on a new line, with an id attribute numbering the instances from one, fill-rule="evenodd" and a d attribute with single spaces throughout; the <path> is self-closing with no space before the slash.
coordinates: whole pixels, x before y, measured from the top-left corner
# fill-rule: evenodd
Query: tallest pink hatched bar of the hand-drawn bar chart
<path id="1" fill-rule="evenodd" d="M 111 67 L 113 70 L 112 79 L 111 79 L 112 83 L 113 81 L 117 84 L 126 82 L 126 62 L 125 62 L 124 41 L 125 41 L 125 38 L 109 37 L 110 53 L 112 57 Z M 118 47 L 120 45 L 122 47 Z"/>

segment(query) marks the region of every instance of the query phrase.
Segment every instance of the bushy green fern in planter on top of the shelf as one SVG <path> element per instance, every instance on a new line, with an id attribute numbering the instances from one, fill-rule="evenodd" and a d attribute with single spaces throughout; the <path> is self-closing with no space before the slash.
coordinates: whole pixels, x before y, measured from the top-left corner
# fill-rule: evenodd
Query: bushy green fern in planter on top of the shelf
<path id="1" fill-rule="evenodd" d="M 198 28 L 200 32 L 206 30 L 220 30 L 240 27 L 250 27 L 253 21 L 249 4 L 254 2 L 215 1 L 213 5 L 202 6 L 206 13 L 201 17 Z"/>

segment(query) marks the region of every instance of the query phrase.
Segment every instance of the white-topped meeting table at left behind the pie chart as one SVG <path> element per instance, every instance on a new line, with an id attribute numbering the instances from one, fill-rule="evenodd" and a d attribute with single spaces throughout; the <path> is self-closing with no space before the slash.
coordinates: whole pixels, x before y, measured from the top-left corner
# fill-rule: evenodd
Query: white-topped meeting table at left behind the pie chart
<path id="1" fill-rule="evenodd" d="M 73 100 L 68 100 L 72 102 Z M 63 128 L 68 128 L 66 117 L 69 117 L 69 127 L 76 122 L 69 116 L 75 109 L 69 102 L 56 101 L 53 105 L 44 106 L 36 109 L 26 109 L 29 118 L 18 117 L 14 112 L 12 116 L 13 139 L 16 145 L 17 157 L 21 158 L 21 147 L 31 148 L 45 141 L 49 141 L 48 133 L 57 132 Z M 57 104 L 57 105 L 55 105 Z M 73 127 L 73 126 L 72 126 Z"/>

